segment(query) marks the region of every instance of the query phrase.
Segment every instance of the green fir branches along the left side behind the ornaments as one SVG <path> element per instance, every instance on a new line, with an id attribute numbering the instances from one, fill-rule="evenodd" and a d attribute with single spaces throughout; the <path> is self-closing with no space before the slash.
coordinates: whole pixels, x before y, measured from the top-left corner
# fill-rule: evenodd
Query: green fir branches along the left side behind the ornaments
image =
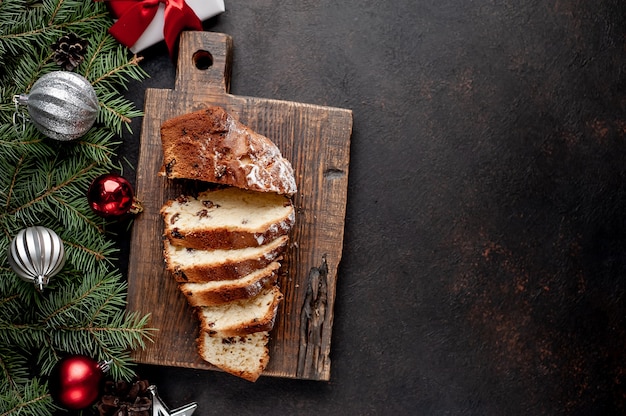
<path id="1" fill-rule="evenodd" d="M 52 414 L 47 377 L 63 355 L 111 360 L 112 377 L 131 378 L 130 352 L 150 338 L 148 317 L 125 310 L 117 248 L 86 200 L 95 177 L 119 169 L 119 136 L 141 115 L 120 91 L 146 74 L 107 34 L 111 24 L 102 2 L 0 0 L 0 416 Z M 100 111 L 85 136 L 57 142 L 32 123 L 14 125 L 13 97 L 61 69 L 50 45 L 70 32 L 89 41 L 75 71 L 94 86 Z M 44 293 L 19 279 L 6 255 L 31 225 L 55 230 L 67 254 Z"/>

